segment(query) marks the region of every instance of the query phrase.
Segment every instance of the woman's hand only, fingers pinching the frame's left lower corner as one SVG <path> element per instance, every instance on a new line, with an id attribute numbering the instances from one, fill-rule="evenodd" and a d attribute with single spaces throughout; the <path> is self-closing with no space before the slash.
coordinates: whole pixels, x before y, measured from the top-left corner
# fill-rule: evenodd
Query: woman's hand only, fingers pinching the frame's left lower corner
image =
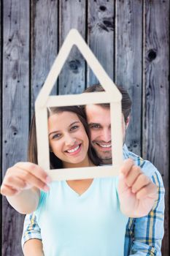
<path id="1" fill-rule="evenodd" d="M 39 165 L 31 162 L 18 162 L 7 170 L 1 184 L 1 194 L 11 197 L 18 195 L 24 189 L 33 187 L 47 192 L 49 182 L 50 177 Z"/>

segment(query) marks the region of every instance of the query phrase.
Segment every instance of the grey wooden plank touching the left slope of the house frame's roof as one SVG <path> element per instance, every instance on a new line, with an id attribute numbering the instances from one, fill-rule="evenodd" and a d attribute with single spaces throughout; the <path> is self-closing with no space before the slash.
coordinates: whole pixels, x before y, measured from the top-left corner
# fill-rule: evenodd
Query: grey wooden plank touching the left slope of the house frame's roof
<path id="1" fill-rule="evenodd" d="M 31 0 L 31 110 L 58 53 L 58 0 Z M 57 93 L 55 83 L 51 94 Z"/>

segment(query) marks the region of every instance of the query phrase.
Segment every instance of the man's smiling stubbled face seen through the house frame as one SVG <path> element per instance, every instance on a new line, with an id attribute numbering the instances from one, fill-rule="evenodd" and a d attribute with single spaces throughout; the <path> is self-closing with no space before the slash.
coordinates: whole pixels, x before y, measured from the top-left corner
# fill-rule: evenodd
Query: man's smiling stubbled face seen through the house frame
<path id="1" fill-rule="evenodd" d="M 100 105 L 86 105 L 85 113 L 90 128 L 91 146 L 103 164 L 112 163 L 111 122 L 109 108 Z M 123 141 L 125 139 L 125 122 L 123 118 Z"/>

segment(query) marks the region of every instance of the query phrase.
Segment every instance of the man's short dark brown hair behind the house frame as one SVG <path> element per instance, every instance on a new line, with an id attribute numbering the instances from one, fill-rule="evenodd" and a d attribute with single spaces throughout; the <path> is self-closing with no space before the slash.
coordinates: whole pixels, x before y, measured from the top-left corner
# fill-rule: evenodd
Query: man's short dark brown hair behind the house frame
<path id="1" fill-rule="evenodd" d="M 127 118 L 131 113 L 131 98 L 128 94 L 128 91 L 126 91 L 122 86 L 117 86 L 117 89 L 122 94 L 122 112 L 123 112 L 123 116 L 125 118 L 125 123 L 126 123 Z M 96 84 L 93 84 L 93 86 L 90 86 L 87 89 L 85 89 L 84 92 L 99 92 L 99 91 L 104 91 L 104 89 L 99 83 L 96 83 Z M 109 103 L 98 104 L 98 105 L 101 105 L 102 107 L 107 107 L 107 108 L 109 107 Z"/>

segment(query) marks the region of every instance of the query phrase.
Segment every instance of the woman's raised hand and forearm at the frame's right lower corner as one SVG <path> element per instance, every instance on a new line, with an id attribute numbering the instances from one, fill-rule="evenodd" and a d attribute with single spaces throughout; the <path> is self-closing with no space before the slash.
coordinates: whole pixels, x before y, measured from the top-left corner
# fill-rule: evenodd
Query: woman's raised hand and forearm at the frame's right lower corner
<path id="1" fill-rule="evenodd" d="M 156 185 L 132 159 L 126 159 L 121 167 L 118 193 L 121 211 L 134 218 L 146 216 L 158 198 Z"/>

